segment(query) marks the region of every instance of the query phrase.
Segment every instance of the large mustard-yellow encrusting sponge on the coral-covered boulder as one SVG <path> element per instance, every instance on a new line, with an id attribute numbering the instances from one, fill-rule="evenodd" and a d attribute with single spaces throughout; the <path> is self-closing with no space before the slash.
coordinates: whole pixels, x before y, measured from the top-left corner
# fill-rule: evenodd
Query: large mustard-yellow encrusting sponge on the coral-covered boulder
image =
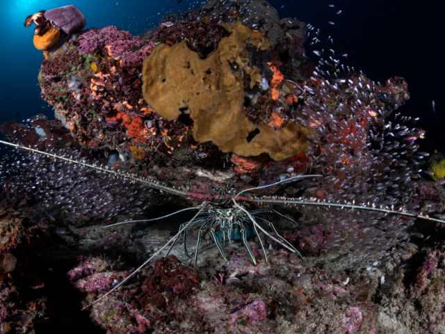
<path id="1" fill-rule="evenodd" d="M 246 65 L 245 45 L 250 42 L 267 49 L 270 43 L 264 33 L 251 31 L 239 22 L 223 26 L 231 34 L 221 39 L 218 49 L 206 59 L 188 49 L 185 41 L 156 47 L 143 62 L 145 101 L 166 120 L 188 113 L 195 141 L 211 141 L 222 152 L 243 157 L 268 153 L 275 161 L 307 152 L 307 135 L 312 133 L 309 129 L 295 122 L 283 129 L 255 125 L 243 115 L 243 79 L 230 63 L 236 61 L 250 74 L 253 87 L 261 82 L 261 74 L 257 67 Z M 248 141 L 249 134 L 254 133 Z"/>

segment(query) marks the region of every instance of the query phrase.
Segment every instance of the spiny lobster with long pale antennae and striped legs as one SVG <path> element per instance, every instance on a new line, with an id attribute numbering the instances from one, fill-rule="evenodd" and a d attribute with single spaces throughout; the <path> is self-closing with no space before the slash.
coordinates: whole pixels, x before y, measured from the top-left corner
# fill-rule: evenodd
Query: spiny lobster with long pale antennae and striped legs
<path id="1" fill-rule="evenodd" d="M 124 280 L 122 280 L 121 283 L 119 283 L 118 285 L 113 287 L 113 289 L 111 289 L 109 292 L 104 294 L 104 296 L 100 297 L 93 303 L 97 303 L 97 301 L 100 301 L 108 294 L 111 294 L 111 292 L 113 292 L 115 289 L 120 287 L 120 285 L 124 284 L 127 280 L 129 280 L 131 277 L 133 277 L 140 269 L 145 267 L 145 265 L 147 265 L 154 257 L 159 255 L 165 247 L 167 247 L 169 244 L 171 244 L 171 246 L 168 249 L 168 252 L 165 254 L 165 256 L 168 255 L 168 253 L 170 253 L 170 250 L 172 250 L 172 247 L 176 244 L 176 242 L 179 239 L 179 237 L 181 236 L 181 234 L 184 234 L 184 250 L 185 250 L 186 255 L 188 255 L 187 248 L 186 248 L 187 234 L 193 228 L 195 228 L 197 225 L 200 225 L 200 229 L 198 231 L 197 245 L 196 245 L 196 249 L 195 249 L 195 265 L 197 264 L 197 253 L 198 253 L 198 248 L 200 245 L 200 237 L 201 237 L 201 234 L 202 234 L 204 228 L 206 228 L 208 226 L 210 227 L 211 238 L 215 242 L 220 254 L 223 256 L 223 258 L 225 260 L 227 260 L 227 256 L 225 255 L 224 250 L 221 247 L 219 240 L 222 239 L 223 242 L 225 242 L 225 241 L 230 242 L 231 239 L 234 239 L 232 236 L 233 236 L 234 230 L 236 230 L 236 229 L 238 229 L 238 231 L 236 231 L 236 232 L 238 232 L 241 235 L 241 240 L 243 241 L 245 248 L 248 250 L 250 258 L 252 259 L 252 262 L 255 265 L 257 264 L 257 262 L 255 260 L 254 255 L 252 254 L 252 251 L 250 250 L 250 246 L 248 246 L 248 243 L 247 243 L 247 239 L 249 237 L 248 233 L 256 235 L 258 237 L 262 253 L 264 254 L 265 260 L 267 261 L 266 251 L 264 250 L 264 245 L 261 241 L 261 238 L 259 237 L 259 233 L 258 233 L 257 229 L 264 232 L 264 234 L 266 234 L 268 237 L 270 237 L 270 239 L 273 239 L 278 244 L 282 245 L 284 248 L 287 248 L 291 252 L 300 255 L 300 253 L 298 252 L 298 250 L 296 250 L 296 248 L 294 248 L 288 241 L 286 241 L 286 239 L 284 239 L 282 236 L 280 236 L 280 234 L 278 234 L 273 223 L 270 223 L 270 221 L 268 221 L 266 213 L 273 213 L 277 216 L 282 216 L 283 218 L 286 218 L 289 221 L 291 221 L 292 223 L 294 223 L 295 225 L 298 225 L 295 221 L 293 221 L 291 218 L 289 218 L 287 216 L 284 216 L 283 214 L 280 214 L 279 212 L 275 211 L 274 209 L 254 209 L 249 212 L 241 204 L 251 203 L 253 205 L 288 205 L 288 206 L 291 206 L 291 205 L 305 206 L 305 205 L 307 205 L 307 206 L 327 207 L 327 208 L 332 207 L 332 208 L 351 209 L 351 210 L 356 209 L 356 210 L 364 210 L 364 211 L 369 211 L 369 212 L 378 212 L 378 213 L 382 213 L 382 214 L 391 214 L 391 215 L 405 216 L 405 217 L 410 217 L 410 218 L 419 218 L 419 219 L 424 219 L 424 220 L 428 220 L 428 221 L 445 224 L 445 220 L 439 219 L 439 218 L 432 218 L 432 217 L 428 216 L 427 214 L 423 214 L 423 213 L 417 214 L 417 213 L 413 213 L 413 212 L 407 212 L 405 209 L 399 209 L 397 211 L 394 209 L 394 205 L 391 207 L 386 207 L 383 205 L 381 205 L 380 207 L 375 207 L 374 204 L 366 205 L 365 203 L 356 205 L 355 201 L 353 201 L 351 203 L 348 203 L 348 202 L 340 203 L 340 202 L 326 202 L 326 201 L 321 201 L 321 200 L 314 200 L 312 198 L 307 200 L 304 198 L 285 198 L 285 197 L 278 197 L 278 196 L 263 196 L 261 198 L 256 197 L 256 196 L 252 196 L 252 197 L 241 196 L 241 193 L 244 193 L 245 191 L 261 189 L 266 186 L 259 186 L 256 188 L 245 189 L 243 191 L 240 191 L 237 194 L 231 193 L 231 191 L 226 191 L 226 192 L 220 191 L 220 194 L 216 195 L 216 196 L 181 191 L 179 189 L 175 189 L 170 186 L 166 186 L 165 184 L 162 184 L 161 182 L 156 181 L 151 178 L 148 178 L 148 177 L 145 177 L 145 178 L 136 177 L 135 175 L 129 175 L 127 173 L 121 173 L 121 172 L 118 172 L 115 170 L 108 169 L 106 167 L 104 168 L 102 166 L 95 166 L 93 164 L 87 164 L 86 162 L 76 161 L 74 159 L 70 159 L 67 157 L 62 157 L 57 154 L 53 154 L 51 152 L 42 152 L 40 150 L 35 150 L 33 148 L 26 148 L 22 145 L 9 143 L 6 141 L 0 141 L 0 143 L 13 146 L 14 148 L 17 148 L 17 149 L 23 149 L 23 150 L 27 150 L 29 152 L 35 152 L 38 154 L 42 154 L 42 155 L 50 157 L 50 158 L 59 159 L 61 161 L 65 161 L 70 164 L 76 164 L 81 167 L 90 168 L 92 170 L 97 170 L 99 172 L 106 173 L 108 175 L 119 177 L 122 180 L 129 180 L 130 182 L 138 182 L 140 184 L 148 186 L 149 188 L 157 189 L 157 190 L 163 191 L 165 193 L 170 193 L 172 195 L 181 196 L 183 198 L 201 201 L 200 205 L 197 205 L 197 207 L 182 209 L 182 210 L 179 210 L 178 212 L 175 212 L 174 214 L 177 214 L 179 212 L 184 212 L 186 210 L 199 209 L 197 214 L 195 214 L 195 216 L 193 216 L 193 218 L 190 221 L 188 221 L 188 223 L 184 223 L 181 225 L 181 228 L 179 229 L 179 232 L 177 232 L 175 237 L 172 237 L 168 242 L 166 242 L 163 247 L 161 247 L 156 253 L 154 253 L 154 255 L 152 255 L 152 257 L 149 257 L 149 259 L 147 261 L 145 261 L 138 269 L 136 269 L 136 271 L 133 271 L 133 273 L 131 273 L 129 276 L 127 276 L 127 278 L 125 278 Z M 297 177 L 293 177 L 291 179 L 276 182 L 274 184 L 269 184 L 267 187 L 277 186 L 279 184 L 292 182 L 293 180 L 297 180 L 302 177 L 320 177 L 320 176 L 321 175 L 305 175 L 305 176 L 300 175 Z M 206 209 L 207 209 L 207 211 L 206 211 Z M 168 215 L 168 216 L 170 216 L 170 215 Z M 154 220 L 165 218 L 165 217 L 167 217 L 167 216 L 154 218 L 149 221 L 154 221 Z M 264 228 L 262 228 L 261 225 L 259 225 L 256 220 L 266 223 L 266 225 L 268 225 L 271 228 L 271 230 L 273 230 L 273 232 L 275 233 L 275 235 L 277 237 L 273 237 L 268 232 L 266 232 L 266 230 L 264 230 Z M 109 228 L 111 226 L 127 224 L 127 223 L 136 223 L 136 222 L 138 222 L 138 221 L 124 221 L 122 223 L 116 223 L 113 225 L 104 226 L 104 228 Z M 92 305 L 92 304 L 90 304 L 90 305 Z M 88 306 L 90 306 L 90 305 L 88 305 Z"/>

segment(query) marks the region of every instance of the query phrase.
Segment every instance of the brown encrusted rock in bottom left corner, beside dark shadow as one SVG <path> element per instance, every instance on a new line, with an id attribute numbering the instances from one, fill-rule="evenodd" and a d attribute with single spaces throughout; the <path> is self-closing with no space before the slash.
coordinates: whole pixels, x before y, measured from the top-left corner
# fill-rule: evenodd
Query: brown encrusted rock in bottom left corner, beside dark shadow
<path id="1" fill-rule="evenodd" d="M 52 312 L 38 271 L 41 226 L 13 207 L 0 208 L 0 333 L 30 333 Z"/>

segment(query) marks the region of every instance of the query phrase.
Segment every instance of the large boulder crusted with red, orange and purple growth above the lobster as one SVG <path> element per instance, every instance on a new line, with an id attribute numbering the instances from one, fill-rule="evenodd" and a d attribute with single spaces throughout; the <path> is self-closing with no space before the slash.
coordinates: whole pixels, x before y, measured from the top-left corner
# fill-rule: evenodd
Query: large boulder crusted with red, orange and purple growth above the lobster
<path id="1" fill-rule="evenodd" d="M 348 81 L 317 79 L 312 77 L 314 64 L 308 63 L 303 56 L 305 24 L 296 19 L 280 21 L 276 11 L 267 3 L 233 3 L 228 11 L 227 8 L 223 10 L 217 1 L 213 5 L 207 3 L 199 10 L 169 15 L 159 27 L 144 35 L 148 40 L 131 36 L 114 26 L 74 35 L 64 47 L 49 52 L 47 60 L 43 61 L 39 74 L 41 97 L 54 105 L 57 118 L 81 145 L 102 152 L 118 151 L 122 167 L 143 169 L 147 175 L 156 175 L 170 186 L 195 193 L 215 196 L 217 193 L 213 188 L 224 182 L 241 190 L 272 184 L 295 175 L 297 171 L 307 170 L 316 173 L 325 170 L 324 173 L 329 175 L 328 184 L 336 180 L 353 182 L 355 175 L 360 174 L 353 172 L 354 176 L 351 176 L 349 166 L 359 168 L 355 159 L 361 164 L 371 162 L 373 166 L 367 167 L 370 170 L 383 168 L 383 164 L 374 166 L 379 160 L 372 162 L 362 156 L 380 153 L 368 146 L 370 142 L 378 146 L 380 141 L 380 137 L 371 138 L 370 131 L 374 131 L 373 128 L 380 131 L 385 125 L 385 117 L 409 98 L 403 79 L 393 78 L 384 86 L 353 72 L 341 73 Z M 252 15 L 253 6 L 264 12 L 262 15 L 267 19 Z M 224 45 L 233 43 L 237 46 L 236 51 L 223 52 Z M 260 47 L 255 46 L 259 44 Z M 158 51 L 152 54 L 154 47 Z M 187 52 L 179 53 L 178 48 Z M 142 63 L 145 61 L 148 69 L 151 68 L 149 63 L 162 61 L 162 56 L 156 61 L 156 54 L 163 53 L 161 50 L 178 51 L 170 52 L 170 58 L 179 54 L 183 60 L 193 56 L 196 64 L 204 67 L 209 64 L 209 69 L 218 63 L 216 57 L 227 58 L 229 64 L 225 65 L 224 71 L 230 74 L 227 77 L 232 78 L 231 85 L 237 88 L 225 109 L 231 110 L 233 117 L 229 120 L 220 115 L 212 123 L 209 120 L 216 113 L 212 111 L 210 117 L 202 112 L 213 110 L 211 103 L 225 106 L 227 100 L 220 98 L 226 93 L 219 88 L 222 81 L 217 79 L 216 68 L 203 73 L 215 86 L 211 92 L 204 90 L 204 86 L 198 89 L 184 84 L 186 77 L 181 86 L 177 86 L 174 79 L 164 83 L 197 90 L 188 92 L 195 95 L 184 106 L 181 102 L 175 108 L 166 109 L 159 101 L 172 103 L 175 99 L 170 98 L 168 92 L 172 90 L 175 92 L 173 97 L 180 97 L 186 94 L 186 89 L 158 91 L 153 84 L 147 83 L 145 90 L 155 97 L 150 100 L 142 89 L 143 81 L 148 80 L 144 79 L 147 75 L 143 73 Z M 168 75 L 164 67 L 152 67 L 160 71 L 159 75 Z M 170 77 L 182 78 L 178 73 L 176 71 Z M 190 73 L 188 69 L 184 76 Z M 361 93 L 357 95 L 355 90 Z M 318 96 L 318 100 L 314 96 Z M 334 112 L 328 111 L 327 106 Z M 170 113 L 175 110 L 175 114 L 169 116 L 163 110 Z M 358 136 L 361 136 L 360 140 L 357 140 Z M 405 136 L 416 134 L 407 131 Z M 410 146 L 414 147 L 414 144 Z M 392 147 L 395 150 L 394 145 Z M 309 154 L 302 154 L 307 150 L 310 150 Z M 336 163 L 336 167 L 348 167 L 348 175 L 343 173 L 345 175 L 334 178 L 335 173 L 329 166 L 321 168 L 314 162 L 320 151 L 332 155 L 325 159 L 330 161 L 329 164 L 343 159 L 341 165 Z M 338 157 L 349 151 L 348 157 Z M 261 164 L 254 168 L 240 168 L 239 163 L 249 156 L 251 161 L 261 160 Z M 217 178 L 211 176 L 216 173 Z M 377 170 L 375 173 L 383 174 Z M 355 182 L 357 191 L 375 182 L 368 178 L 366 173 L 361 173 L 359 180 L 362 182 Z M 349 184 L 343 188 L 346 186 Z M 382 186 L 380 182 L 375 182 L 375 187 L 379 186 Z M 342 190 L 336 189 L 337 192 Z M 321 187 L 316 193 L 327 193 L 327 189 Z M 289 193 L 284 195 L 289 196 Z M 330 199 L 327 196 L 318 198 Z M 366 198 L 372 198 L 371 194 Z M 355 200 L 359 202 L 361 198 Z M 378 198 L 375 202 L 387 205 L 388 201 L 380 202 Z"/>

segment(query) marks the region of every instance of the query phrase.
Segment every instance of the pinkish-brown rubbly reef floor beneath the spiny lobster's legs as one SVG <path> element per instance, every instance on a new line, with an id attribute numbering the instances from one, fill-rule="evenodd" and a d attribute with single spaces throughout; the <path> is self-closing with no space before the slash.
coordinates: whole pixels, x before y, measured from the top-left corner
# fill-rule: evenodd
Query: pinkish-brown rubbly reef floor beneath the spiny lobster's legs
<path id="1" fill-rule="evenodd" d="M 225 245 L 225 262 L 204 233 L 195 269 L 179 239 L 169 257 L 81 310 L 163 246 L 188 214 L 102 228 L 44 212 L 26 203 L 0 211 L 0 333 L 445 333 L 444 229 L 433 223 L 416 222 L 410 242 L 385 260 L 330 252 L 300 259 L 263 237 L 267 263 L 249 241 L 255 267 L 241 241 Z M 275 223 L 293 240 L 295 230 Z M 195 242 L 196 232 L 191 255 Z"/>

